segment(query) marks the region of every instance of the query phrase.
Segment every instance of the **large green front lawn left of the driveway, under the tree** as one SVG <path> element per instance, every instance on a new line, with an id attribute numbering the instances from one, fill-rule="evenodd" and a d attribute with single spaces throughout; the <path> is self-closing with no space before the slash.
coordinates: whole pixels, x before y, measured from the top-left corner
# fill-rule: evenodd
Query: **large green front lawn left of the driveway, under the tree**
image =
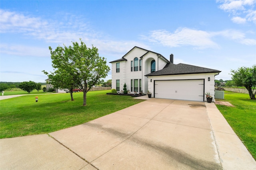
<path id="1" fill-rule="evenodd" d="M 0 100 L 0 138 L 50 133 L 91 121 L 144 100 L 131 96 L 106 95 L 110 90 L 87 93 L 27 95 Z M 35 97 L 38 96 L 38 102 Z"/>

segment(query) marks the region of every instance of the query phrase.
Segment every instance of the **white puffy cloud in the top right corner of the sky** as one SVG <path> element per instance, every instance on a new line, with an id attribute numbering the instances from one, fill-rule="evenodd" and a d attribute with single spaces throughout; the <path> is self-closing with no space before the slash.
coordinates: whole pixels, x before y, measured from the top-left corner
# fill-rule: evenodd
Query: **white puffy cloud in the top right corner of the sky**
<path id="1" fill-rule="evenodd" d="M 219 8 L 232 15 L 232 21 L 244 24 L 247 21 L 256 24 L 256 0 L 217 0 L 222 3 Z"/>

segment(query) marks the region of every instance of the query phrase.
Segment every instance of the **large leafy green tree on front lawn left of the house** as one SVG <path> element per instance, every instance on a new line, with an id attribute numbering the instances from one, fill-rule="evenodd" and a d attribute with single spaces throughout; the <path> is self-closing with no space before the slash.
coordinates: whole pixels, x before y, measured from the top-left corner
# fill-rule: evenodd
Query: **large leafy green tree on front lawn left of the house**
<path id="1" fill-rule="evenodd" d="M 96 84 L 102 83 L 102 78 L 106 78 L 110 68 L 104 57 L 100 57 L 98 49 L 92 45 L 92 48 L 86 47 L 86 44 L 80 39 L 78 42 L 72 42 L 73 46 L 57 47 L 55 51 L 49 47 L 52 66 L 57 70 L 52 74 L 52 78 L 60 80 L 54 76 L 64 76 L 65 81 L 61 86 L 70 88 L 80 88 L 84 95 L 83 106 L 86 106 L 86 94 Z M 69 80 L 69 82 L 68 82 Z M 70 94 L 72 90 L 70 90 Z"/>

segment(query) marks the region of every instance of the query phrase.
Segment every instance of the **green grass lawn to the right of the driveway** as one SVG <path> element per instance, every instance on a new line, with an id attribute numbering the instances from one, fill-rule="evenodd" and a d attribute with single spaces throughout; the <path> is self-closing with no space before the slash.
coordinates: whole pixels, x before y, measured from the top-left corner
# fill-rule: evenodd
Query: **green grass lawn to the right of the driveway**
<path id="1" fill-rule="evenodd" d="M 224 98 L 217 100 L 230 102 L 235 107 L 216 106 L 256 159 L 256 100 L 251 100 L 249 94 L 227 91 Z"/>

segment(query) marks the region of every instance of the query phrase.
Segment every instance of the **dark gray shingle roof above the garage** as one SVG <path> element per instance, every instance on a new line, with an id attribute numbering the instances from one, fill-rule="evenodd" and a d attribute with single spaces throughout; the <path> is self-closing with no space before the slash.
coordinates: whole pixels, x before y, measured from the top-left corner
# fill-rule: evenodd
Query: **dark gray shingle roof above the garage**
<path id="1" fill-rule="evenodd" d="M 199 74 L 199 73 L 213 73 L 221 72 L 220 70 L 214 70 L 211 68 L 204 68 L 199 66 L 193 66 L 189 64 L 166 64 L 166 66 L 159 71 L 146 74 L 145 76 L 163 76 L 163 75 L 177 75 L 177 74 Z"/>

